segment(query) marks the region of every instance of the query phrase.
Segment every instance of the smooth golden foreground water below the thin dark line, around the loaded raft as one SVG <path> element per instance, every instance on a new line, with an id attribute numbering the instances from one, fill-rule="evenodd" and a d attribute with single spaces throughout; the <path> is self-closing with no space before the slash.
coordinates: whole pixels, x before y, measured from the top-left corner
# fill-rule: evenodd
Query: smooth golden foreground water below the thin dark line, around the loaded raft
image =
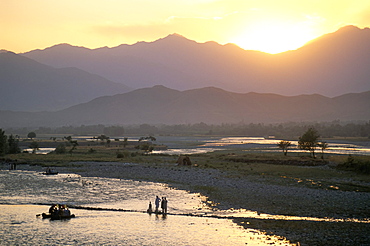
<path id="1" fill-rule="evenodd" d="M 226 219 L 87 210 L 63 221 L 35 216 L 47 208 L 0 205 L 1 245 L 290 245 Z"/>

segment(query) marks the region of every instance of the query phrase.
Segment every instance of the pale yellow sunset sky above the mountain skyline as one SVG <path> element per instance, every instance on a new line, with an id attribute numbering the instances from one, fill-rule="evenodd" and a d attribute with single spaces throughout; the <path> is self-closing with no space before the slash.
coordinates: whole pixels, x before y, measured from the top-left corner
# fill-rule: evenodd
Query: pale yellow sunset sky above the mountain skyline
<path id="1" fill-rule="evenodd" d="M 0 0 L 0 49 L 17 53 L 172 33 L 278 53 L 346 25 L 370 27 L 369 0 Z"/>

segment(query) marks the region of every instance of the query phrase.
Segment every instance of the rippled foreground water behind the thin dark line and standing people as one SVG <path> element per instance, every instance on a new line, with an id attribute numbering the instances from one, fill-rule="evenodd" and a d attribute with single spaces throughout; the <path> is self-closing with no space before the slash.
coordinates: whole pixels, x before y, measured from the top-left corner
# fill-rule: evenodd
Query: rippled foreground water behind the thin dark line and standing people
<path id="1" fill-rule="evenodd" d="M 165 184 L 77 174 L 42 175 L 33 171 L 0 171 L 0 203 L 103 206 L 127 210 L 147 209 L 156 195 L 169 198 L 169 208 L 188 212 L 203 207 L 199 194 L 176 190 Z"/>

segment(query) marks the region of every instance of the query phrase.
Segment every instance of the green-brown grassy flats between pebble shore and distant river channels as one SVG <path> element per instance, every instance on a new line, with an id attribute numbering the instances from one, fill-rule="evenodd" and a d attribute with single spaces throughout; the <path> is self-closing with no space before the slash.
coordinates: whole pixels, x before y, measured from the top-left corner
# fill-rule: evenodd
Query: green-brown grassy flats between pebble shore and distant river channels
<path id="1" fill-rule="evenodd" d="M 138 142 L 131 142 L 123 147 L 116 142 L 107 145 L 99 142 L 79 141 L 79 146 L 76 149 L 69 152 L 72 147 L 67 146 L 64 154 L 20 153 L 8 155 L 6 158 L 17 160 L 18 163 L 44 167 L 68 166 L 71 165 L 70 163 L 81 161 L 133 162 L 144 165 L 174 164 L 177 161 L 178 156 L 150 154 L 136 149 L 138 144 Z M 56 143 L 52 140 L 44 140 L 40 145 L 50 147 L 56 146 Z M 370 156 L 351 158 L 368 165 L 370 163 Z M 370 175 L 338 168 L 348 161 L 348 156 L 343 155 L 313 159 L 307 153 L 289 153 L 284 156 L 282 153 L 249 153 L 235 149 L 233 151 L 193 154 L 191 160 L 197 168 L 222 170 L 234 178 L 248 177 L 249 179 L 261 180 L 262 177 L 263 182 L 273 184 L 370 192 L 370 185 L 364 185 L 370 182 Z"/>

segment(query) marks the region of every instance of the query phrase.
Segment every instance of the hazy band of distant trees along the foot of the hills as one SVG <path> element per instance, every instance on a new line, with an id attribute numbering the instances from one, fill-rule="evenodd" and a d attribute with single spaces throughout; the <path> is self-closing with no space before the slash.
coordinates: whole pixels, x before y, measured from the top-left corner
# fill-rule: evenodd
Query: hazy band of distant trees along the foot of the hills
<path id="1" fill-rule="evenodd" d="M 236 136 L 275 136 L 276 138 L 298 138 L 309 128 L 315 128 L 322 138 L 365 137 L 370 138 L 370 121 L 363 123 L 342 123 L 340 121 L 324 123 L 283 123 L 283 124 L 222 124 L 205 123 L 181 125 L 130 125 L 105 126 L 81 125 L 57 128 L 39 127 L 6 129 L 7 133 L 26 135 L 30 131 L 37 134 L 73 134 L 101 135 L 111 137 L 136 135 L 236 135 Z"/>

